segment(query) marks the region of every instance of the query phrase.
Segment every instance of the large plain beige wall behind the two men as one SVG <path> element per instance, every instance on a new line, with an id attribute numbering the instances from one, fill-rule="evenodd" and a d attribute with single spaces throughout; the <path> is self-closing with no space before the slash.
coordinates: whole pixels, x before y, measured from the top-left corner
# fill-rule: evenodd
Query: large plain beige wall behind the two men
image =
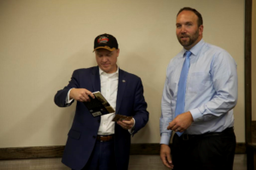
<path id="1" fill-rule="evenodd" d="M 96 65 L 93 41 L 105 32 L 118 38 L 120 68 L 143 80 L 150 118 L 132 142 L 158 143 L 166 67 L 182 49 L 176 14 L 184 6 L 203 15 L 204 40 L 236 59 L 235 131 L 244 142 L 244 0 L 6 0 L 0 1 L 0 148 L 66 143 L 75 105 L 59 108 L 54 95 L 73 70 Z"/>

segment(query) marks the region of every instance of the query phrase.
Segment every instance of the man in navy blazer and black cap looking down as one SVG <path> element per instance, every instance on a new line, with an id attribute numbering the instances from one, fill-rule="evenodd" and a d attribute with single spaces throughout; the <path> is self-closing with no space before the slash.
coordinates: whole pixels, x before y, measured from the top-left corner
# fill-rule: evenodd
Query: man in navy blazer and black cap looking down
<path id="1" fill-rule="evenodd" d="M 98 66 L 73 71 L 67 87 L 55 94 L 55 104 L 72 105 L 77 100 L 73 125 L 68 133 L 62 162 L 72 169 L 128 168 L 131 135 L 148 122 L 147 103 L 139 77 L 119 69 L 118 42 L 109 34 L 95 39 Z M 85 107 L 93 92 L 100 91 L 115 113 L 92 116 Z M 89 97 L 90 96 L 90 97 Z M 112 122 L 115 114 L 132 116 L 130 121 Z"/>

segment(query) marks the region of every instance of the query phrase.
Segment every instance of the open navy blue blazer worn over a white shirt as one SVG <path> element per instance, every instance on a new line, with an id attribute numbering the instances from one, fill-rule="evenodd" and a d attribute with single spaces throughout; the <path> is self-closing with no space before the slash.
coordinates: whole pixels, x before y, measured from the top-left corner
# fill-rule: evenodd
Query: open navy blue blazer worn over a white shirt
<path id="1" fill-rule="evenodd" d="M 139 77 L 119 69 L 116 113 L 133 116 L 134 133 L 148 122 L 147 103 L 143 96 L 143 84 Z M 70 88 L 86 88 L 91 92 L 101 91 L 99 67 L 90 67 L 73 71 L 67 87 L 55 94 L 55 104 L 67 107 L 66 98 Z M 92 116 L 82 102 L 77 101 L 73 125 L 68 133 L 67 144 L 62 162 L 73 169 L 82 169 L 94 148 L 101 116 Z M 114 154 L 119 170 L 128 169 L 131 134 L 115 123 Z"/>

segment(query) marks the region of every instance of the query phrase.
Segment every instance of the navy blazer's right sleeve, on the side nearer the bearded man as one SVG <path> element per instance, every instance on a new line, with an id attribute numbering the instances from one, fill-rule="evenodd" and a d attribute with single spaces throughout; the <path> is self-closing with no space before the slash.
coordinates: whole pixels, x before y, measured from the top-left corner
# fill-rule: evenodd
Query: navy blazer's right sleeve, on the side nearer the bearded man
<path id="1" fill-rule="evenodd" d="M 134 102 L 134 111 L 135 115 L 133 118 L 135 119 L 135 127 L 132 135 L 137 133 L 141 128 L 143 128 L 148 122 L 148 111 L 147 111 L 147 103 L 143 96 L 143 83 L 139 78 L 137 82 L 136 92 L 135 92 L 135 102 Z"/>

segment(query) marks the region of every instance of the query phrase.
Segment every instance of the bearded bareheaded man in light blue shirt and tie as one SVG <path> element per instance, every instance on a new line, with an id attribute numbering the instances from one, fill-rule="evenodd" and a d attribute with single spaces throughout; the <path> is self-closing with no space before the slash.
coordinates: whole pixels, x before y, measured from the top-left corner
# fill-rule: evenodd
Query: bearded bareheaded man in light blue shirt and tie
<path id="1" fill-rule="evenodd" d="M 176 27 L 183 50 L 171 60 L 166 71 L 160 158 L 166 167 L 175 170 L 231 170 L 236 149 L 236 62 L 224 49 L 202 40 L 203 21 L 194 8 L 180 9 Z M 183 76 L 187 57 L 189 68 Z M 185 83 L 179 84 L 182 79 Z M 183 97 L 179 97 L 181 94 Z M 177 107 L 182 107 L 182 112 L 178 113 Z M 175 134 L 171 152 L 172 132 Z"/>

